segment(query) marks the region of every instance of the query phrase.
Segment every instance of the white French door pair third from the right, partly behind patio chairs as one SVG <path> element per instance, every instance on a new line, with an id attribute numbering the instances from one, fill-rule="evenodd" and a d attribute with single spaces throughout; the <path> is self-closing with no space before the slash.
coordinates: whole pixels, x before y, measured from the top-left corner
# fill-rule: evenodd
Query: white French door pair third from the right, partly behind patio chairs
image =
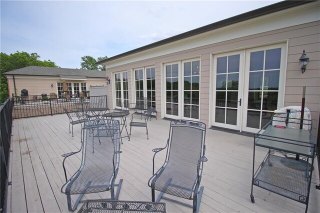
<path id="1" fill-rule="evenodd" d="M 155 68 L 134 69 L 134 85 L 135 100 L 143 100 L 143 97 L 146 97 L 152 108 L 155 108 Z"/>

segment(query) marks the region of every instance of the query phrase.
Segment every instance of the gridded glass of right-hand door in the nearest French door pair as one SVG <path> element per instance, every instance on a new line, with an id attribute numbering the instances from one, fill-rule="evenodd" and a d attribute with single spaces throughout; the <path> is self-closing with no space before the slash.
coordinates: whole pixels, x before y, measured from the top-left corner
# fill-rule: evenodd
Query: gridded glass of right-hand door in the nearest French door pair
<path id="1" fill-rule="evenodd" d="M 281 48 L 249 52 L 246 127 L 259 129 L 277 108 Z"/>

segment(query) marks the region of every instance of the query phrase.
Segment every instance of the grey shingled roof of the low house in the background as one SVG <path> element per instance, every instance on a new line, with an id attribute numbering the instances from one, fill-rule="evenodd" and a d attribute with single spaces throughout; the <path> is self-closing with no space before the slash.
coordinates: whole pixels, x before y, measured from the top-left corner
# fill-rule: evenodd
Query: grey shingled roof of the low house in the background
<path id="1" fill-rule="evenodd" d="M 105 71 L 88 69 L 69 69 L 46 66 L 27 66 L 2 73 L 3 75 L 60 76 L 61 78 L 85 79 L 86 77 L 105 78 Z"/>

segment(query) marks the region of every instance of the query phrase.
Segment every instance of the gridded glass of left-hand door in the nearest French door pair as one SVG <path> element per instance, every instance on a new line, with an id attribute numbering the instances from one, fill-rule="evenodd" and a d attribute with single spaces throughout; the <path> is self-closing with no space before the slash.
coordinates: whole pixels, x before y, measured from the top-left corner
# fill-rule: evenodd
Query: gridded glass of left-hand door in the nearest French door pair
<path id="1" fill-rule="evenodd" d="M 241 87 L 239 84 L 240 54 L 215 58 L 214 125 L 239 129 Z M 241 57 L 242 58 L 242 57 Z"/>

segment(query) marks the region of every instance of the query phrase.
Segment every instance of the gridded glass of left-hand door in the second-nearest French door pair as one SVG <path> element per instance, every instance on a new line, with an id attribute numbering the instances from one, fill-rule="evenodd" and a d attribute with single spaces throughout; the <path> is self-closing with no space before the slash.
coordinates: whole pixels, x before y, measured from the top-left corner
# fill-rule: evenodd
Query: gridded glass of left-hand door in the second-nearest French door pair
<path id="1" fill-rule="evenodd" d="M 165 114 L 179 118 L 179 76 L 178 63 L 165 65 Z"/>

